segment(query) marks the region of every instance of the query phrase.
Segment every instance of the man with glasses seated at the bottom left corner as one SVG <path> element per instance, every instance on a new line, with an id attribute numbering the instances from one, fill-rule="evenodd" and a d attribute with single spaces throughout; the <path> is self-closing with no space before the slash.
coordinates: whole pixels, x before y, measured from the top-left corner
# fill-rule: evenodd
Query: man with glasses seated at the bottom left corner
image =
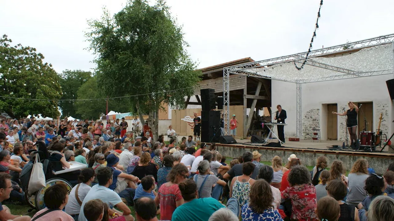
<path id="1" fill-rule="evenodd" d="M 9 198 L 12 190 L 11 175 L 0 173 L 0 221 L 10 219 L 14 221 L 29 221 L 30 216 L 13 215 L 6 205 L 2 205 L 2 202 Z"/>

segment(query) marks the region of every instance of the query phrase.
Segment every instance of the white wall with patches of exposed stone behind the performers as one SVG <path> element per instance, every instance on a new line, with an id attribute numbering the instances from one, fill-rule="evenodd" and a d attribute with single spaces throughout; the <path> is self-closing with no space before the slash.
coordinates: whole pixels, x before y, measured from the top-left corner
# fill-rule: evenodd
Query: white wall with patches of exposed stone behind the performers
<path id="1" fill-rule="evenodd" d="M 327 104 L 338 104 L 338 112 L 342 108 L 348 109 L 347 103 L 373 102 L 374 130 L 377 129 L 380 113 L 384 119 L 381 123 L 383 133 L 389 137 L 393 131 L 392 113 L 393 104 L 388 94 L 385 81 L 393 76 L 372 76 L 335 81 L 323 81 L 302 84 L 301 116 L 302 137 L 310 138 L 312 127 L 320 128 L 322 139 L 327 139 Z M 296 134 L 296 84 L 282 81 L 271 81 L 272 110 L 276 105 L 282 105 L 287 112 L 285 136 L 293 137 Z M 362 122 L 361 122 L 362 123 Z M 360 125 L 360 123 L 359 123 Z M 345 140 L 346 125 L 343 117 L 338 116 L 338 140 Z"/>

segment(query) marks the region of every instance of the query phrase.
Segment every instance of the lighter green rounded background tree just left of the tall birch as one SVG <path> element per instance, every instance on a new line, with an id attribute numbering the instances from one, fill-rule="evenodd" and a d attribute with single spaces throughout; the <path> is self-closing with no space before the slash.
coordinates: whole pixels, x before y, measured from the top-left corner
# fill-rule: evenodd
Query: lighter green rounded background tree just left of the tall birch
<path id="1" fill-rule="evenodd" d="M 76 92 L 76 96 L 78 96 L 78 99 L 90 99 L 76 101 L 74 103 L 76 116 L 80 116 L 81 119 L 99 119 L 100 114 L 106 114 L 106 100 L 100 99 L 105 98 L 106 95 L 99 90 L 99 82 L 96 76 L 90 77 L 89 80 L 81 85 Z M 109 99 L 108 111 L 129 112 L 129 99 L 130 98 Z"/>

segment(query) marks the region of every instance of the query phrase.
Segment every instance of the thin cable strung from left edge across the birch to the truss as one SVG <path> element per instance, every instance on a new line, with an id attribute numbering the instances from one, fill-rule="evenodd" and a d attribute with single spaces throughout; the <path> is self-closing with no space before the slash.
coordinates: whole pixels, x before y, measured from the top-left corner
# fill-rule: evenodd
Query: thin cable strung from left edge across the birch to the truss
<path id="1" fill-rule="evenodd" d="M 240 76 L 242 77 L 242 76 Z M 114 98 L 91 98 L 91 99 L 35 99 L 35 98 L 14 98 L 14 97 L 9 97 L 9 96 L 0 96 L 0 98 L 9 98 L 9 99 L 21 99 L 21 100 L 30 100 L 30 101 L 97 101 L 97 100 L 109 100 L 109 99 L 120 99 L 120 98 L 131 98 L 131 97 L 136 97 L 136 96 L 144 96 L 144 95 L 150 95 L 150 94 L 162 94 L 162 93 L 168 93 L 168 92 L 174 92 L 178 90 L 185 90 L 189 88 L 195 88 L 195 87 L 201 87 L 203 85 L 212 85 L 216 83 L 220 83 L 223 80 L 220 81 L 214 81 L 211 83 L 206 83 L 206 84 L 201 84 L 201 85 L 195 85 L 191 87 L 185 87 L 185 88 L 180 88 L 180 89 L 175 89 L 175 90 L 168 90 L 168 91 L 162 91 L 162 92 L 152 92 L 152 93 L 147 93 L 147 94 L 136 94 L 136 95 L 129 95 L 129 96 L 121 96 L 121 97 L 114 97 Z"/>

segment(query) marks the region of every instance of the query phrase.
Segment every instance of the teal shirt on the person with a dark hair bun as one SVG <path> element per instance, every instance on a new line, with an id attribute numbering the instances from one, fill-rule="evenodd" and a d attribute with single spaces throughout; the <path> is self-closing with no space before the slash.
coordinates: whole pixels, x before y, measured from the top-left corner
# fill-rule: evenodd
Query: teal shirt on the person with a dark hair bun
<path id="1" fill-rule="evenodd" d="M 209 217 L 220 208 L 226 208 L 219 201 L 212 197 L 193 199 L 188 203 L 178 206 L 171 220 L 172 221 L 206 221 Z"/>

